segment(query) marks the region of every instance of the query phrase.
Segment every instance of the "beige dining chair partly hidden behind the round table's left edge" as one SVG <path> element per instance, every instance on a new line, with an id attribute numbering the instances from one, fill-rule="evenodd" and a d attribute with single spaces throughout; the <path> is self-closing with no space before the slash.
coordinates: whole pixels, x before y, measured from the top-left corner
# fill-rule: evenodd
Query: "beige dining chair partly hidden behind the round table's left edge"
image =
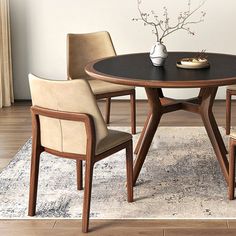
<path id="1" fill-rule="evenodd" d="M 89 77 L 84 68 L 97 59 L 116 56 L 110 34 L 106 31 L 67 35 L 67 77 L 87 79 L 96 99 L 106 99 L 105 121 L 110 123 L 111 98 L 130 95 L 131 131 L 136 133 L 135 87 L 108 83 Z"/>

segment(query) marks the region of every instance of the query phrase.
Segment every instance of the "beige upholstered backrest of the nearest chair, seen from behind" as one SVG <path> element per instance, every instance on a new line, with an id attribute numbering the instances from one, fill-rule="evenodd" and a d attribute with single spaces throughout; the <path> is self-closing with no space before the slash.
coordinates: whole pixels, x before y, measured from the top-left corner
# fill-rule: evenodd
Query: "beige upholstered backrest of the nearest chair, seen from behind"
<path id="1" fill-rule="evenodd" d="M 55 81 L 29 75 L 33 106 L 85 113 L 93 117 L 96 144 L 108 135 L 107 126 L 86 80 Z M 82 122 L 40 116 L 41 145 L 60 152 L 86 154 L 87 135 Z"/>

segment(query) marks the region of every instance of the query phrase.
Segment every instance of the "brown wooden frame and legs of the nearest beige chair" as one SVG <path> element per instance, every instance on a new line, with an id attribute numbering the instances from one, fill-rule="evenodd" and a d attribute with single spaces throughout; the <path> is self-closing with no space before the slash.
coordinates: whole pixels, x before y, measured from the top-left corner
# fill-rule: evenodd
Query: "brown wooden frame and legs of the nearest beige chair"
<path id="1" fill-rule="evenodd" d="M 95 126 L 93 118 L 88 114 L 74 113 L 74 112 L 62 112 L 51 109 L 45 109 L 37 106 L 31 107 L 32 114 L 32 159 L 31 159 L 31 172 L 30 172 L 30 192 L 29 192 L 29 208 L 28 215 L 34 216 L 36 212 L 37 201 L 37 189 L 38 189 L 38 175 L 40 154 L 42 152 L 48 152 L 53 155 L 75 159 L 77 164 L 77 188 L 82 189 L 82 161 L 85 161 L 85 188 L 84 188 L 84 202 L 83 202 L 83 214 L 82 214 L 82 232 L 87 233 L 89 227 L 89 214 L 90 214 L 90 202 L 92 191 L 92 178 L 94 164 L 113 153 L 116 153 L 122 149 L 126 149 L 126 171 L 127 171 L 127 200 L 133 201 L 133 143 L 132 139 L 124 142 L 123 144 L 113 147 L 101 154 L 95 154 Z M 40 120 L 39 116 L 45 116 L 61 120 L 70 120 L 83 122 L 86 128 L 87 134 L 87 147 L 86 155 L 73 154 L 59 152 L 52 150 L 41 145 L 40 141 Z"/>

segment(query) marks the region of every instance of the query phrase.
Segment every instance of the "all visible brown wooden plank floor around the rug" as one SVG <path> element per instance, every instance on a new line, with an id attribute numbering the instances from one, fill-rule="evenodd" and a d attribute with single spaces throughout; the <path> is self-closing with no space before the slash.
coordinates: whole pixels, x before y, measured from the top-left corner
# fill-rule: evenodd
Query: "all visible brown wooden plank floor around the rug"
<path id="1" fill-rule="evenodd" d="M 104 103 L 100 102 L 101 110 Z M 112 103 L 111 126 L 128 126 L 129 103 Z M 137 104 L 137 125 L 142 126 L 148 105 Z M 233 102 L 233 123 L 236 125 L 236 102 Z M 225 126 L 225 102 L 217 101 L 214 113 L 219 126 Z M 202 126 L 199 116 L 184 111 L 167 114 L 162 126 Z M 30 103 L 17 102 L 0 109 L 0 170 L 14 157 L 31 136 Z M 162 235 L 162 236 L 236 236 L 236 220 L 93 220 L 89 235 Z M 82 235 L 80 220 L 0 220 L 2 236 L 74 236 Z"/>

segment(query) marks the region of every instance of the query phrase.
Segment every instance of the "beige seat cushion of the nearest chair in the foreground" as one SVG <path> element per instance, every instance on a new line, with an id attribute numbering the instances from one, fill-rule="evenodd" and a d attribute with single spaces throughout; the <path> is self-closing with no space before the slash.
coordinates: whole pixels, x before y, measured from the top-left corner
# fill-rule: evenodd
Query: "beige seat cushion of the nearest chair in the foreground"
<path id="1" fill-rule="evenodd" d="M 109 129 L 107 137 L 101 140 L 97 145 L 96 155 L 103 153 L 122 143 L 125 143 L 131 139 L 132 135 L 129 133 Z"/>

